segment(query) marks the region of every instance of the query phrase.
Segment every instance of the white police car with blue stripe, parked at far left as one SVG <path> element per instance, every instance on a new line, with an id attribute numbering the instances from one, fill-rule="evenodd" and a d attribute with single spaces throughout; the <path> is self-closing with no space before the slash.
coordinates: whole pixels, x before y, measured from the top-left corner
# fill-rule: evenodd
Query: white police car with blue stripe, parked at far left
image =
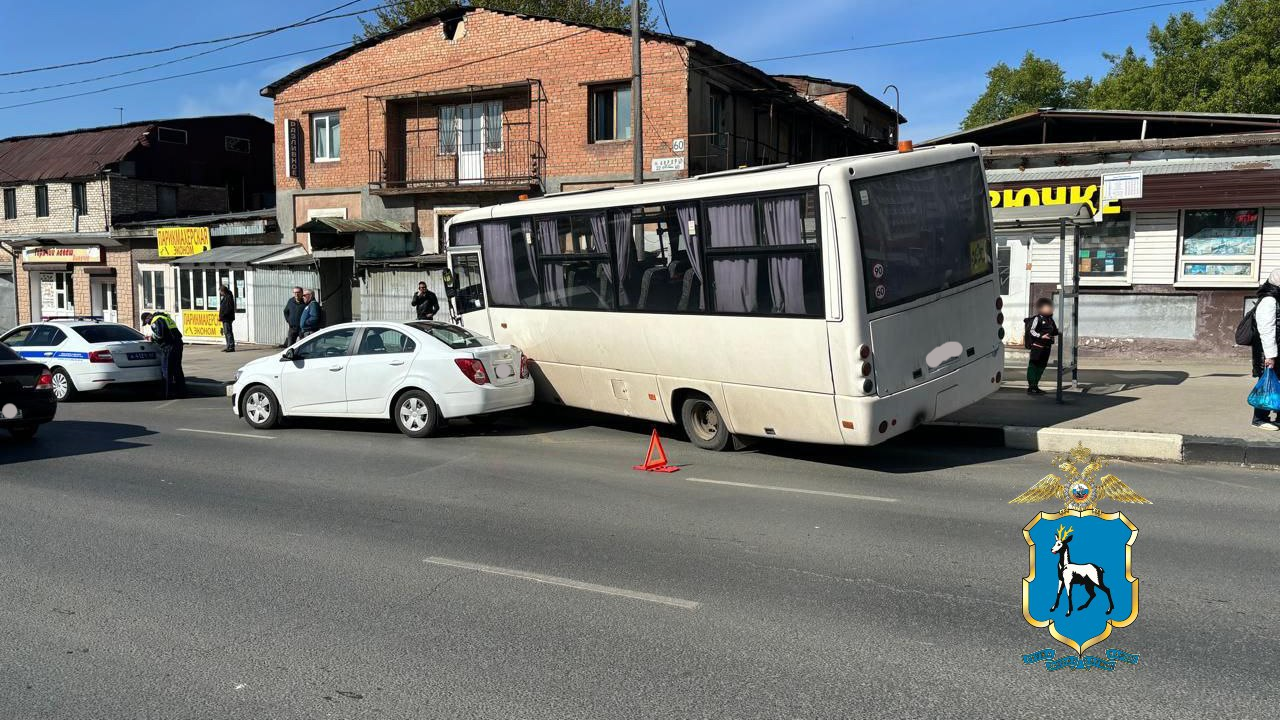
<path id="1" fill-rule="evenodd" d="M 58 400 L 109 386 L 160 382 L 160 348 L 119 323 L 92 318 L 28 323 L 0 336 L 0 342 L 49 366 Z"/>

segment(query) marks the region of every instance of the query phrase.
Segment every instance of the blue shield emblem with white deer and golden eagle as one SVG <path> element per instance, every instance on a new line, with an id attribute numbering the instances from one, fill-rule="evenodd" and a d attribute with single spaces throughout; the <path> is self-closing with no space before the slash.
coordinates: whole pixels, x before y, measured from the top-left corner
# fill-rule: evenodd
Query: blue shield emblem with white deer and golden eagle
<path id="1" fill-rule="evenodd" d="M 1111 670 L 1116 660 L 1137 662 L 1137 656 L 1120 651 L 1107 651 L 1106 659 L 1084 656 L 1084 651 L 1138 618 L 1138 578 L 1132 566 L 1138 528 L 1123 512 L 1102 512 L 1097 505 L 1105 500 L 1151 501 L 1112 474 L 1098 478 L 1107 460 L 1094 457 L 1083 445 L 1055 456 L 1053 464 L 1062 477 L 1046 475 L 1009 502 L 1062 501 L 1061 511 L 1041 512 L 1023 528 L 1030 555 L 1023 578 L 1023 618 L 1048 628 L 1075 656 L 1055 659 L 1053 651 L 1046 650 L 1023 660 L 1044 660 L 1050 670 Z"/>

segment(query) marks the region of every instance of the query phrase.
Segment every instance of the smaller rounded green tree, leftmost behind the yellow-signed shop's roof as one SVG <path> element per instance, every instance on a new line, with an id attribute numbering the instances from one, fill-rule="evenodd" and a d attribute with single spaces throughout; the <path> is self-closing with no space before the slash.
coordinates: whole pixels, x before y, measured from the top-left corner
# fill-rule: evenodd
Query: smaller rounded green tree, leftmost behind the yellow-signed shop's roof
<path id="1" fill-rule="evenodd" d="M 1089 78 L 1068 81 L 1061 65 L 1028 51 L 1016 68 L 997 63 L 987 70 L 987 90 L 960 127 L 969 129 L 1037 108 L 1074 108 L 1084 102 L 1091 88 Z"/>

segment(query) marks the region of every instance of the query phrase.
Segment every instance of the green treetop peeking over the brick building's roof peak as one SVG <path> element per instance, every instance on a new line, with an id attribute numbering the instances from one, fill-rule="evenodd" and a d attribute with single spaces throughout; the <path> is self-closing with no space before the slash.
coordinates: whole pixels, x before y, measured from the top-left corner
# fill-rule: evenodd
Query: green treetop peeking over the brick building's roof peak
<path id="1" fill-rule="evenodd" d="M 649 4 L 645 0 L 636 1 L 640 3 L 640 26 L 644 29 L 653 29 L 654 18 L 649 13 Z M 379 8 L 374 10 L 376 15 L 374 22 L 360 20 L 361 32 L 356 40 L 372 37 L 457 4 L 457 0 L 402 0 L 389 8 Z M 631 27 L 631 5 L 625 0 L 468 0 L 466 5 L 594 26 Z"/>

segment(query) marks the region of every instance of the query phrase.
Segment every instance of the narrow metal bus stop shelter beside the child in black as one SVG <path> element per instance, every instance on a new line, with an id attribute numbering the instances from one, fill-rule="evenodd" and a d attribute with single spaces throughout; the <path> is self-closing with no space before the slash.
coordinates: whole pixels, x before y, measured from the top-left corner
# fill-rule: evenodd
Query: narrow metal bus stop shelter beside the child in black
<path id="1" fill-rule="evenodd" d="M 1080 228 L 1093 224 L 1088 205 L 1034 205 L 1029 208 L 996 208 L 991 211 L 997 234 L 1009 232 L 1055 233 L 1059 240 L 1057 291 L 1055 306 L 1059 309 L 1059 328 L 1062 337 L 1057 342 L 1057 392 L 1064 402 L 1062 386 L 1070 373 L 1071 387 L 1079 383 L 1080 338 L 1080 265 L 1075 249 L 1080 243 Z M 1070 356 L 1068 357 L 1068 343 Z"/>

